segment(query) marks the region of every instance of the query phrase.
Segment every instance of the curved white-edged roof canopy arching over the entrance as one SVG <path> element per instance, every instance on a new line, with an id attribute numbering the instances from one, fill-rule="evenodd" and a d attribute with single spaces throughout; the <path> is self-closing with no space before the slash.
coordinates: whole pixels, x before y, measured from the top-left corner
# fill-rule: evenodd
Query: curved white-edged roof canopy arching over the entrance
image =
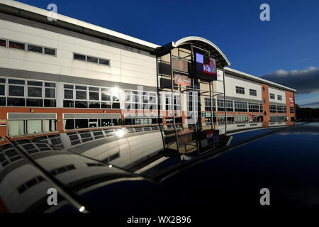
<path id="1" fill-rule="evenodd" d="M 210 57 L 216 58 L 217 67 L 228 67 L 230 66 L 230 62 L 224 53 L 211 41 L 206 40 L 206 38 L 201 38 L 198 36 L 188 36 L 185 38 L 181 38 L 176 42 L 168 43 L 167 45 L 162 46 L 161 52 L 162 54 L 166 54 L 172 48 L 178 48 L 181 45 L 186 45 L 192 43 L 197 48 L 201 48 L 203 50 L 207 50 L 210 52 Z"/>

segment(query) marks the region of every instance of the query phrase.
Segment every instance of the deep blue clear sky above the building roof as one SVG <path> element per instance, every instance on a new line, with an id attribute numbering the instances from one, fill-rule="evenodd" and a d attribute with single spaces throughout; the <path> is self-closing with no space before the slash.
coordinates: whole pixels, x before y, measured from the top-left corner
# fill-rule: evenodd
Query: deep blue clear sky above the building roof
<path id="1" fill-rule="evenodd" d="M 225 53 L 231 67 L 255 76 L 319 68 L 318 0 L 21 2 L 42 9 L 55 3 L 65 16 L 158 45 L 201 36 Z M 270 6 L 270 21 L 259 19 L 263 3 Z M 303 96 L 303 103 L 319 101 L 318 93 Z"/>

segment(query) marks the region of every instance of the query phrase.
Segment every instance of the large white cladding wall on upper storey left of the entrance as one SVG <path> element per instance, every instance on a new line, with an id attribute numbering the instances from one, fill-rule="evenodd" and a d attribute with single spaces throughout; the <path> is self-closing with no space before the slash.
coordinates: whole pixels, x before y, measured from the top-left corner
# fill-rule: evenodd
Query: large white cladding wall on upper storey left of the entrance
<path id="1" fill-rule="evenodd" d="M 57 49 L 57 56 L 0 48 L 0 67 L 156 87 L 156 58 L 60 33 L 0 20 L 0 38 Z M 110 66 L 73 60 L 73 52 Z"/>

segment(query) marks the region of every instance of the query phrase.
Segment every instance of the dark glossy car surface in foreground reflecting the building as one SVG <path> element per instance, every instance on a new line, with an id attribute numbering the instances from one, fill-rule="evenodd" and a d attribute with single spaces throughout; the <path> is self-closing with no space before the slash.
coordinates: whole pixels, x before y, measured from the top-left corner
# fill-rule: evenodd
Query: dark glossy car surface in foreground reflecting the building
<path id="1" fill-rule="evenodd" d="M 0 143 L 0 208 L 126 214 L 260 209 L 262 188 L 272 194 L 272 208 L 318 208 L 319 123 L 232 136 L 203 154 L 163 150 L 159 128 L 6 138 Z M 47 204 L 50 188 L 59 194 L 57 206 Z"/>

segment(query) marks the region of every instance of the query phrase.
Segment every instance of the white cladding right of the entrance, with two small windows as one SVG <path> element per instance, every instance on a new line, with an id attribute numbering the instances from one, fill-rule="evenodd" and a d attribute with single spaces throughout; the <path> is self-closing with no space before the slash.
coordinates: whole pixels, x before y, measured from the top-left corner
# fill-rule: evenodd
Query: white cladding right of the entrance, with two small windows
<path id="1" fill-rule="evenodd" d="M 237 94 L 237 87 L 244 87 L 245 94 Z M 223 92 L 223 82 L 216 81 L 217 92 Z M 257 96 L 250 95 L 250 89 L 254 89 L 257 92 Z M 233 75 L 225 73 L 225 90 L 226 96 L 232 96 L 242 99 L 254 99 L 262 100 L 262 85 L 257 82 L 252 82 L 248 79 L 242 79 L 240 77 L 235 77 Z"/>

